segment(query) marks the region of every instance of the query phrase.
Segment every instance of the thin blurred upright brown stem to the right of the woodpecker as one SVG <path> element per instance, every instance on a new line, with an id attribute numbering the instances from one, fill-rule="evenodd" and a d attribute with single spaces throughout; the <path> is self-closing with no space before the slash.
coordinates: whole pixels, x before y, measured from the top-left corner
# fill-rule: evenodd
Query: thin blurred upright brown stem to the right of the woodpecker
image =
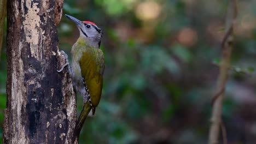
<path id="1" fill-rule="evenodd" d="M 219 130 L 222 128 L 223 140 L 226 142 L 226 131 L 222 124 L 222 105 L 225 91 L 225 85 L 228 80 L 228 71 L 230 68 L 230 57 L 233 44 L 233 31 L 237 17 L 236 0 L 229 1 L 228 13 L 226 15 L 226 28 L 224 38 L 221 44 L 222 58 L 219 67 L 219 76 L 216 88 L 216 94 L 212 99 L 213 110 L 211 117 L 211 128 L 209 132 L 209 144 L 217 144 L 219 140 Z"/>

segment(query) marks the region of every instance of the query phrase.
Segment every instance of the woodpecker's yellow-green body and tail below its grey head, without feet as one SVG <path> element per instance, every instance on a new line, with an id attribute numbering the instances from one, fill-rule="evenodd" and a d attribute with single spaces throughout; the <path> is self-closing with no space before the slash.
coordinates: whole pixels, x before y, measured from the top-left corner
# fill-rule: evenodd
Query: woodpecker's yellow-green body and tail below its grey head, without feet
<path id="1" fill-rule="evenodd" d="M 77 91 L 84 97 L 83 110 L 80 113 L 77 124 L 75 125 L 75 133 L 80 133 L 83 123 L 92 109 L 95 112 L 95 107 L 101 99 L 104 73 L 104 55 L 101 49 L 89 46 L 83 38 L 79 38 L 77 43 L 72 47 L 72 69 L 73 81 Z M 90 100 L 86 101 L 86 94 L 83 79 L 87 89 L 89 90 Z M 83 94 L 85 93 L 85 94 Z"/>

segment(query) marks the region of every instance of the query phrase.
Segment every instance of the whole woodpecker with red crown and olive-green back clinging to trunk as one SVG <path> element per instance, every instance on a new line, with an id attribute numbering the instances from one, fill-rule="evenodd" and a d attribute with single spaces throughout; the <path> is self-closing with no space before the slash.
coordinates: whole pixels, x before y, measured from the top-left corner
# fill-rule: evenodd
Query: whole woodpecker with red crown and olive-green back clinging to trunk
<path id="1" fill-rule="evenodd" d="M 94 22 L 79 21 L 67 14 L 65 16 L 75 22 L 80 32 L 77 42 L 72 46 L 72 63 L 71 68 L 69 67 L 75 90 L 83 96 L 84 102 L 83 110 L 75 124 L 75 139 L 75 136 L 79 137 L 89 112 L 92 110 L 94 115 L 100 103 L 105 67 L 104 55 L 100 49 L 103 32 Z M 68 64 L 67 62 L 63 67 Z M 59 72 L 63 70 L 63 67 Z"/>

